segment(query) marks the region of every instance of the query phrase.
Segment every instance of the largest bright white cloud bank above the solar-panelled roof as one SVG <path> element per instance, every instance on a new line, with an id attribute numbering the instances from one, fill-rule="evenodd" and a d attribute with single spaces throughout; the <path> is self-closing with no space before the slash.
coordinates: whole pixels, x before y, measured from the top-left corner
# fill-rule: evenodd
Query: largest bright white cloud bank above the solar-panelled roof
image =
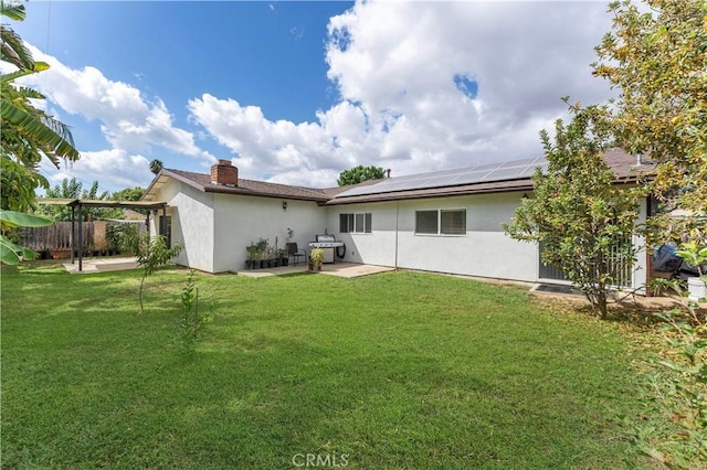
<path id="1" fill-rule="evenodd" d="M 317 122 L 270 120 L 210 94 L 189 109 L 246 178 L 323 185 L 356 164 L 401 175 L 527 158 L 564 115 L 561 96 L 610 96 L 589 66 L 610 25 L 600 2 L 357 2 L 329 21 L 340 102 Z"/>

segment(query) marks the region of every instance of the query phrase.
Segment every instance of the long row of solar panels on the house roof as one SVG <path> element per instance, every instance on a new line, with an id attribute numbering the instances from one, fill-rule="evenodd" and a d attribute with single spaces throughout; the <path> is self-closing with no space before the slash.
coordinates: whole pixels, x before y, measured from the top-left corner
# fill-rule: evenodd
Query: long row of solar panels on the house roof
<path id="1" fill-rule="evenodd" d="M 518 180 L 530 178 L 537 167 L 547 167 L 545 157 L 391 178 L 376 184 L 352 188 L 337 197 Z"/>

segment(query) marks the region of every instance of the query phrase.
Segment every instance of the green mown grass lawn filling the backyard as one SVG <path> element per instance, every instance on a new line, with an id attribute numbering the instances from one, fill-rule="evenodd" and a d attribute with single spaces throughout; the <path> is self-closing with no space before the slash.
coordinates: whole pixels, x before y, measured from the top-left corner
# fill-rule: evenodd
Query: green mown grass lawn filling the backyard
<path id="1" fill-rule="evenodd" d="M 389 273 L 2 270 L 3 468 L 636 468 L 615 324 L 523 288 Z M 327 460 L 328 459 L 328 460 Z M 313 460 L 316 462 L 316 460 Z"/>

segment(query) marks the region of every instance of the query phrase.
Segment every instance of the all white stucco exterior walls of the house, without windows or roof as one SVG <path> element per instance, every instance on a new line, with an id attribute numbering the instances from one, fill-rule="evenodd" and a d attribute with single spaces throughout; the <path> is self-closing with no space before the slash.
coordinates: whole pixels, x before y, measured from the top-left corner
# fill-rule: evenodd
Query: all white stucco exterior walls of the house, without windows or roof
<path id="1" fill-rule="evenodd" d="M 316 234 L 335 234 L 346 243 L 345 260 L 351 263 L 537 281 L 537 245 L 511 239 L 500 226 L 510 222 L 521 196 L 516 192 L 321 207 L 307 201 L 203 193 L 172 180 L 159 200 L 169 205 L 172 243 L 184 246 L 177 263 L 208 273 L 243 269 L 245 247 L 260 237 L 273 245 L 277 237 L 277 247 L 285 248 L 291 227 L 294 242 L 307 253 Z M 287 202 L 286 211 L 283 202 Z M 466 210 L 465 235 L 414 233 L 415 211 L 444 209 Z M 372 215 L 372 233 L 339 233 L 339 214 L 368 212 Z M 639 222 L 645 218 L 644 202 Z M 155 227 L 157 218 L 152 221 Z M 642 237 L 634 236 L 634 243 L 644 246 Z M 642 249 L 633 286 L 645 284 L 646 267 Z"/>

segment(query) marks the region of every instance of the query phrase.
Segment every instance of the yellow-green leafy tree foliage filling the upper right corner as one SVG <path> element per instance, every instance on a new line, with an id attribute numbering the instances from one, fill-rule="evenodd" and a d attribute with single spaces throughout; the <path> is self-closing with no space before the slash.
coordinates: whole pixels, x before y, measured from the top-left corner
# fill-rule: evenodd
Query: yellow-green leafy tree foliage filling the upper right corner
<path id="1" fill-rule="evenodd" d="M 657 162 L 654 194 L 667 206 L 707 214 L 707 2 L 629 0 L 610 4 L 613 29 L 594 74 L 621 90 L 621 146 Z M 667 221 L 661 224 L 663 231 Z M 692 221 L 698 222 L 698 221 Z M 704 227 L 704 222 L 703 222 Z"/>

